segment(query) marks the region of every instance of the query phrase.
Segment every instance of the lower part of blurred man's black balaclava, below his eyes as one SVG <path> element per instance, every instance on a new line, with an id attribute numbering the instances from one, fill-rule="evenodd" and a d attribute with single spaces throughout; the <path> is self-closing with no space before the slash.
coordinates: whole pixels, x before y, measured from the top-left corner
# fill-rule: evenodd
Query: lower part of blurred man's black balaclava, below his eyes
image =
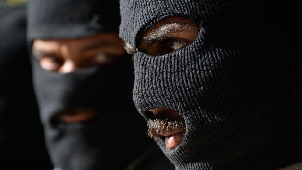
<path id="1" fill-rule="evenodd" d="M 120 169 L 145 148 L 145 129 L 139 129 L 144 121 L 131 105 L 132 72 L 125 72 L 132 68 L 129 58 L 67 74 L 45 71 L 33 57 L 32 65 L 46 146 L 56 167 Z M 57 119 L 75 108 L 93 109 L 97 116 L 81 123 Z M 143 144 L 135 147 L 137 142 Z"/>

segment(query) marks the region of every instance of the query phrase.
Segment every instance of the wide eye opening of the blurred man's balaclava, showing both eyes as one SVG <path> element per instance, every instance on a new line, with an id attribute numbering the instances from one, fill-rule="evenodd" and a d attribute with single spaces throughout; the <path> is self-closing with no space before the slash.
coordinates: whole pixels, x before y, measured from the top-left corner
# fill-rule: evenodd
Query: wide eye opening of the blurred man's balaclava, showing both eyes
<path id="1" fill-rule="evenodd" d="M 104 66 L 124 54 L 117 33 L 71 39 L 36 39 L 32 52 L 41 68 L 60 73 L 77 68 Z"/>

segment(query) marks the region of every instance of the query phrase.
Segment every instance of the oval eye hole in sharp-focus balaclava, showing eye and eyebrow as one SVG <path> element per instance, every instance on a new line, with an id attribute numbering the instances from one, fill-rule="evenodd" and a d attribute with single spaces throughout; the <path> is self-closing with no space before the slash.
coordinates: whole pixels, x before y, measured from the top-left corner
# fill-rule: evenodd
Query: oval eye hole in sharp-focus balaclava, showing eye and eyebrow
<path id="1" fill-rule="evenodd" d="M 199 26 L 188 18 L 166 18 L 149 28 L 142 36 L 138 50 L 160 56 L 190 45 L 199 33 Z"/>

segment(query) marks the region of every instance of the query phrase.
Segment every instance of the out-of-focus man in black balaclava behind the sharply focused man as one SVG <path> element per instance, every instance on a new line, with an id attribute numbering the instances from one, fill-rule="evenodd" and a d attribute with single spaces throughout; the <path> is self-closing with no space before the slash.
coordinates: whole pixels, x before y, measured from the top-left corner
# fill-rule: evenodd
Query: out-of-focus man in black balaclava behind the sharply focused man
<path id="1" fill-rule="evenodd" d="M 119 23 L 118 1 L 29 1 L 34 88 L 58 169 L 124 169 L 149 142 Z"/>

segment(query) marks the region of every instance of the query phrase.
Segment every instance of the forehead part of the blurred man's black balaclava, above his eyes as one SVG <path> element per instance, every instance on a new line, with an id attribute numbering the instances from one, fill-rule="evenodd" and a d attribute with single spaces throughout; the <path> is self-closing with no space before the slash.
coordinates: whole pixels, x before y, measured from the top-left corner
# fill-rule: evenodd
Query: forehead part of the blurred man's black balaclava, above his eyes
<path id="1" fill-rule="evenodd" d="M 87 37 L 118 31 L 118 5 L 118 0 L 29 0 L 28 38 Z"/>

